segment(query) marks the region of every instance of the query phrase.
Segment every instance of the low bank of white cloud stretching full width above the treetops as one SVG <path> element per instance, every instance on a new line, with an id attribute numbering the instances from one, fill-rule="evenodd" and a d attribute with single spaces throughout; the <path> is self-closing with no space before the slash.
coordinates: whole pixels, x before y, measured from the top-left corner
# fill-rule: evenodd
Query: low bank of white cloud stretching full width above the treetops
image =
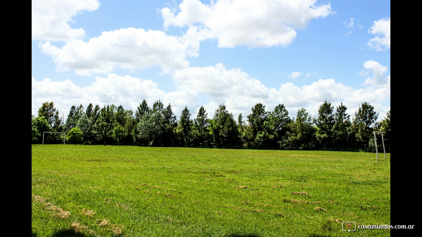
<path id="1" fill-rule="evenodd" d="M 382 103 L 390 99 L 390 76 L 384 78 L 382 75 L 385 74 L 385 67 L 375 61 L 365 62 L 364 68 L 364 73 L 373 76 L 366 79 L 371 82 L 367 83 L 367 87 L 358 89 L 334 79 L 319 79 L 301 87 L 287 82 L 280 84 L 278 89 L 268 88 L 242 70 L 226 69 L 221 63 L 176 70 L 173 81 L 177 89 L 171 92 L 162 91 L 155 82 L 148 79 L 121 77 L 116 74 L 96 76 L 92 85 L 85 87 L 76 86 L 70 80 L 53 82 L 50 79 L 32 79 L 32 107 L 33 113 L 36 113 L 34 110 L 38 110 L 42 103 L 53 101 L 57 103 L 56 108 L 65 111 L 74 104 L 87 106 L 89 103 L 99 104 L 101 107 L 104 104 L 122 105 L 125 109 L 135 110 L 145 99 L 150 106 L 156 100 L 160 100 L 165 106 L 170 103 L 177 118 L 187 106 L 193 119 L 201 105 L 208 117 L 212 118 L 218 106 L 225 104 L 234 118 L 241 113 L 246 119 L 256 103 L 265 105 L 267 111 L 272 111 L 277 104 L 284 104 L 292 118 L 300 108 L 305 108 L 312 117 L 318 116 L 318 108 L 324 101 L 331 102 L 334 107 L 343 102 L 349 115 L 353 115 L 363 102 L 368 102 L 379 108 L 377 112 L 382 119 L 389 110 Z M 378 83 L 383 80 L 385 83 Z M 208 101 L 199 101 L 201 95 L 207 97 Z M 67 113 L 68 111 L 65 115 Z"/>

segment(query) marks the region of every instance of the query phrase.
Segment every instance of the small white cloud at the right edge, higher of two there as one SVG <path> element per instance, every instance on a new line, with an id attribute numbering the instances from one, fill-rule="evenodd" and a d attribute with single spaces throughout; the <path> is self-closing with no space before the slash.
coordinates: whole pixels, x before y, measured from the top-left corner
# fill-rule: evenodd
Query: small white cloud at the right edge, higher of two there
<path id="1" fill-rule="evenodd" d="M 368 46 L 376 51 L 384 51 L 390 48 L 390 17 L 374 21 L 374 25 L 368 30 L 368 33 L 376 35 L 375 38 L 369 40 Z"/>

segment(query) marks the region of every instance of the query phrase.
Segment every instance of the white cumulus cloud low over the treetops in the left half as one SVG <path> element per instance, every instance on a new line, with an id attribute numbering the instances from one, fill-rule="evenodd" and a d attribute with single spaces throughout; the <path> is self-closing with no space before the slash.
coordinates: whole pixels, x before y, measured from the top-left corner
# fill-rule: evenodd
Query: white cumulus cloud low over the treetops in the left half
<path id="1" fill-rule="evenodd" d="M 93 83 L 79 87 L 69 79 L 65 81 L 51 81 L 44 79 L 37 81 L 32 78 L 32 108 L 38 110 L 46 101 L 53 101 L 56 108 L 64 111 L 67 116 L 72 105 L 90 103 L 99 106 L 114 104 L 122 105 L 125 109 L 135 111 L 142 100 L 148 105 L 160 100 L 165 106 L 172 105 L 173 112 L 181 113 L 185 106 L 195 106 L 198 94 L 194 90 L 176 90 L 169 93 L 157 87 L 157 83 L 130 76 L 108 74 L 107 77 L 96 76 Z M 177 114 L 176 114 L 177 115 Z"/>

